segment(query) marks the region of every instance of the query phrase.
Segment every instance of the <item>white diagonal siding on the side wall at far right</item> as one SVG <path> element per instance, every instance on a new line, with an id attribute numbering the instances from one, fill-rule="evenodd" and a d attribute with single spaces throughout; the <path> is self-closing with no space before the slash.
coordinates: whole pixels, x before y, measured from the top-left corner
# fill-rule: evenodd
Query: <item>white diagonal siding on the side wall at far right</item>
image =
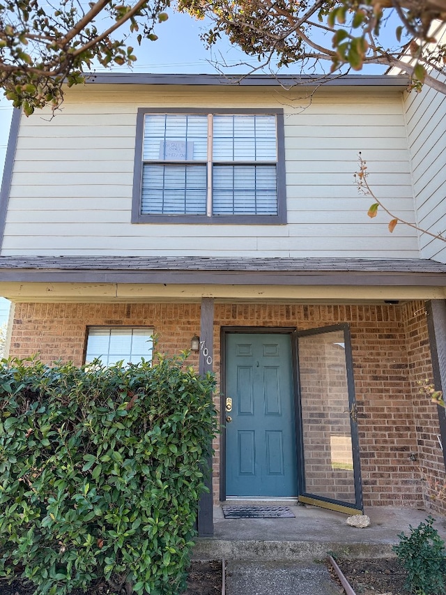
<path id="1" fill-rule="evenodd" d="M 417 225 L 433 234 L 445 235 L 446 96 L 425 85 L 421 93 L 406 93 L 404 103 Z M 420 234 L 420 246 L 423 258 L 446 262 L 445 242 Z"/>

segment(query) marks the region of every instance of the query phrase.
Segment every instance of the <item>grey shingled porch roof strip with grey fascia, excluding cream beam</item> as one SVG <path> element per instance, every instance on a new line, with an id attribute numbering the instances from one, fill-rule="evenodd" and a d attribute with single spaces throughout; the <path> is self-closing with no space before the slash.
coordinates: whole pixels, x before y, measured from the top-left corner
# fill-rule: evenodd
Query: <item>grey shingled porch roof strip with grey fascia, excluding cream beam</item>
<path id="1" fill-rule="evenodd" d="M 446 264 L 423 259 L 3 256 L 0 276 L 1 281 L 52 283 L 446 287 Z"/>

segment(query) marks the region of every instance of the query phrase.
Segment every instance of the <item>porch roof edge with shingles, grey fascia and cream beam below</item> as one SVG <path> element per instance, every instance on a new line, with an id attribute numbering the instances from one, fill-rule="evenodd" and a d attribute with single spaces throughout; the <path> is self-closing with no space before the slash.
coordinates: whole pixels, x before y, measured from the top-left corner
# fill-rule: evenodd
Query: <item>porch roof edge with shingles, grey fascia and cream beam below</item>
<path id="1" fill-rule="evenodd" d="M 203 257 L 0 257 L 13 301 L 113 299 L 444 299 L 431 260 Z"/>

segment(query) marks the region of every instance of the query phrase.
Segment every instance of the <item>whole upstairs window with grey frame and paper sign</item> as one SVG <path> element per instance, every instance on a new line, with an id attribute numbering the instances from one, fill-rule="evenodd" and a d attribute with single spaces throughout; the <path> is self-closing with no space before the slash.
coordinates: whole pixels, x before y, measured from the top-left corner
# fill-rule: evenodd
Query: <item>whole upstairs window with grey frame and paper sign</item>
<path id="1" fill-rule="evenodd" d="M 133 223 L 285 223 L 283 114 L 140 109 Z"/>

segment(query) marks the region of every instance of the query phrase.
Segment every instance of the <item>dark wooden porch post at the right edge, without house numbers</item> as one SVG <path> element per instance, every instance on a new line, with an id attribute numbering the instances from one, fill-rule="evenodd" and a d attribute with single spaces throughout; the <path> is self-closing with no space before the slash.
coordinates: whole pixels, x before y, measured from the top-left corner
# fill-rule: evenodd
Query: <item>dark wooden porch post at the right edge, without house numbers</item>
<path id="1" fill-rule="evenodd" d="M 446 301 L 433 299 L 426 302 L 427 328 L 431 346 L 431 360 L 433 368 L 433 384 L 437 390 L 446 396 Z M 441 443 L 443 444 L 443 460 L 446 467 L 446 412 L 444 407 L 438 407 L 440 420 Z"/>

